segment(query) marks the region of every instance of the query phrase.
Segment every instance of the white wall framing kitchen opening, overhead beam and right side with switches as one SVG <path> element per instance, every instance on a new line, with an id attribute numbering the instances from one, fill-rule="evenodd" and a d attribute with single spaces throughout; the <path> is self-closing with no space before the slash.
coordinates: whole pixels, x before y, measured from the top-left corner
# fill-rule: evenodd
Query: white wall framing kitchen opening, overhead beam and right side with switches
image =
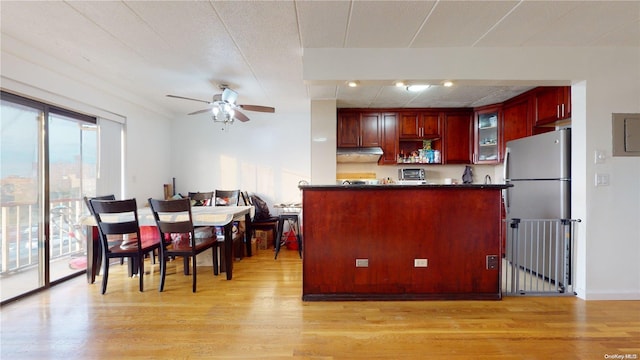
<path id="1" fill-rule="evenodd" d="M 455 61 L 453 61 L 455 60 Z M 639 48 L 305 49 L 304 79 L 570 81 L 576 291 L 640 299 L 640 158 L 611 155 L 611 114 L 640 112 Z M 312 134 L 313 136 L 313 134 Z M 611 185 L 594 185 L 596 172 Z"/>

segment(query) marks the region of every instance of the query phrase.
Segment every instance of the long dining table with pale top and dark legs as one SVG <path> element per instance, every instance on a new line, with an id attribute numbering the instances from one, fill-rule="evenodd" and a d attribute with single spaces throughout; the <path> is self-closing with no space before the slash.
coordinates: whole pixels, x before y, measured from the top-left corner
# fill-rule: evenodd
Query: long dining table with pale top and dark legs
<path id="1" fill-rule="evenodd" d="M 245 246 L 246 255 L 251 256 L 251 219 L 255 215 L 253 206 L 193 206 L 191 218 L 194 226 L 217 226 L 224 228 L 224 258 L 227 280 L 233 278 L 233 223 L 245 222 Z M 100 241 L 97 231 L 96 219 L 87 215 L 80 219 L 80 224 L 85 227 L 87 234 L 87 282 L 93 284 L 99 272 Z M 156 222 L 151 208 L 148 206 L 138 209 L 138 225 L 140 227 L 155 227 Z M 195 271 L 195 270 L 194 270 Z"/>

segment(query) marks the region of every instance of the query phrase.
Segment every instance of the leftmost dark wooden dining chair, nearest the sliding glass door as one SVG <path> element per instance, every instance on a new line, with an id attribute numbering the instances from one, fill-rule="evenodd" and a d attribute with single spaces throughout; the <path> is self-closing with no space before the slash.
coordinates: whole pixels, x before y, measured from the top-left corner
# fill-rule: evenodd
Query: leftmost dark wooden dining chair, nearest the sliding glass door
<path id="1" fill-rule="evenodd" d="M 140 236 L 138 206 L 135 199 L 89 199 L 89 206 L 98 225 L 102 244 L 102 294 L 107 291 L 109 259 L 129 258 L 130 275 L 138 274 L 140 291 L 144 291 L 144 257 L 160 247 L 157 237 Z M 115 236 L 122 240 L 115 244 Z"/>

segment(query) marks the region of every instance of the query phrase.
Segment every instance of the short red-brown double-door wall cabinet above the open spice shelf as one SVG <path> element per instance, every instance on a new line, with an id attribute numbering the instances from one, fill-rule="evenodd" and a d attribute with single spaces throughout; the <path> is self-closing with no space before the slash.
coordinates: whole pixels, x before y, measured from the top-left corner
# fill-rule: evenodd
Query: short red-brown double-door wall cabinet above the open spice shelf
<path id="1" fill-rule="evenodd" d="M 399 113 L 398 131 L 402 140 L 437 139 L 441 133 L 440 112 L 402 111 Z"/>

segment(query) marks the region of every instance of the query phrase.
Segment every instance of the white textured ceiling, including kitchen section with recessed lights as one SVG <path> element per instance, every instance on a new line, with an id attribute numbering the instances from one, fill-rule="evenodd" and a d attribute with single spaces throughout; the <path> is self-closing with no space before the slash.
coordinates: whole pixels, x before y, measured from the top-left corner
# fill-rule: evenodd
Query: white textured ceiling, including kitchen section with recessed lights
<path id="1" fill-rule="evenodd" d="M 308 111 L 460 107 L 502 101 L 521 84 L 432 87 L 416 95 L 359 79 L 305 82 L 305 48 L 640 46 L 638 1 L 1 1 L 3 51 L 70 67 L 175 114 L 220 84 L 238 102 Z M 26 45 L 44 56 L 22 50 Z M 429 80 L 442 79 L 403 79 Z"/>

